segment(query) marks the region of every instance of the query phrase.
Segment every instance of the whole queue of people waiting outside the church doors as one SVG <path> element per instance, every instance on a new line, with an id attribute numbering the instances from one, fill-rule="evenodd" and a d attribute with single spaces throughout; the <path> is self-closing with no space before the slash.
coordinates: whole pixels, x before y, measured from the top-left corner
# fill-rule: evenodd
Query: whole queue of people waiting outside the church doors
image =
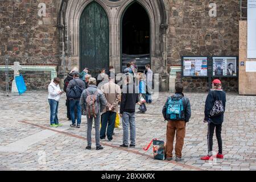
<path id="1" fill-rule="evenodd" d="M 80 128 L 81 115 L 84 112 L 87 118 L 87 143 L 86 150 L 92 149 L 92 128 L 94 120 L 96 150 L 102 150 L 101 140 L 113 140 L 115 118 L 119 113 L 122 118 L 123 141 L 120 147 L 129 148 L 136 146 L 135 106 L 139 104 L 138 113 L 147 111 L 145 103 L 152 103 L 152 75 L 150 65 L 146 65 L 146 73 L 135 73 L 135 65 L 127 64 L 125 79 L 122 89 L 115 84 L 113 67 L 110 67 L 108 75 L 105 69 L 101 70 L 98 81 L 89 75 L 89 69 L 85 68 L 79 73 L 75 68 L 68 74 L 64 81 L 64 92 L 67 100 L 67 118 L 72 121 L 71 127 Z M 135 84 L 138 81 L 138 86 Z M 104 82 L 102 84 L 101 82 Z M 50 106 L 50 126 L 62 126 L 57 117 L 61 94 L 60 78 L 54 78 L 48 86 L 48 102 Z M 120 105 L 120 109 L 118 106 Z M 201 160 L 213 158 L 213 133 L 216 130 L 218 142 L 217 158 L 223 159 L 221 129 L 224 121 L 226 94 L 222 90 L 220 80 L 212 82 L 207 100 L 205 101 L 205 123 L 208 123 L 208 155 Z M 167 98 L 162 110 L 163 118 L 167 121 L 166 131 L 166 159 L 172 160 L 172 151 L 175 149 L 175 160 L 184 160 L 182 149 L 185 138 L 185 127 L 191 118 L 191 104 L 189 98 L 183 94 L 183 85 L 176 84 L 175 94 Z M 100 127 L 101 125 L 101 127 Z M 130 141 L 129 141 L 130 130 Z M 174 148 L 174 139 L 176 144 Z"/>

